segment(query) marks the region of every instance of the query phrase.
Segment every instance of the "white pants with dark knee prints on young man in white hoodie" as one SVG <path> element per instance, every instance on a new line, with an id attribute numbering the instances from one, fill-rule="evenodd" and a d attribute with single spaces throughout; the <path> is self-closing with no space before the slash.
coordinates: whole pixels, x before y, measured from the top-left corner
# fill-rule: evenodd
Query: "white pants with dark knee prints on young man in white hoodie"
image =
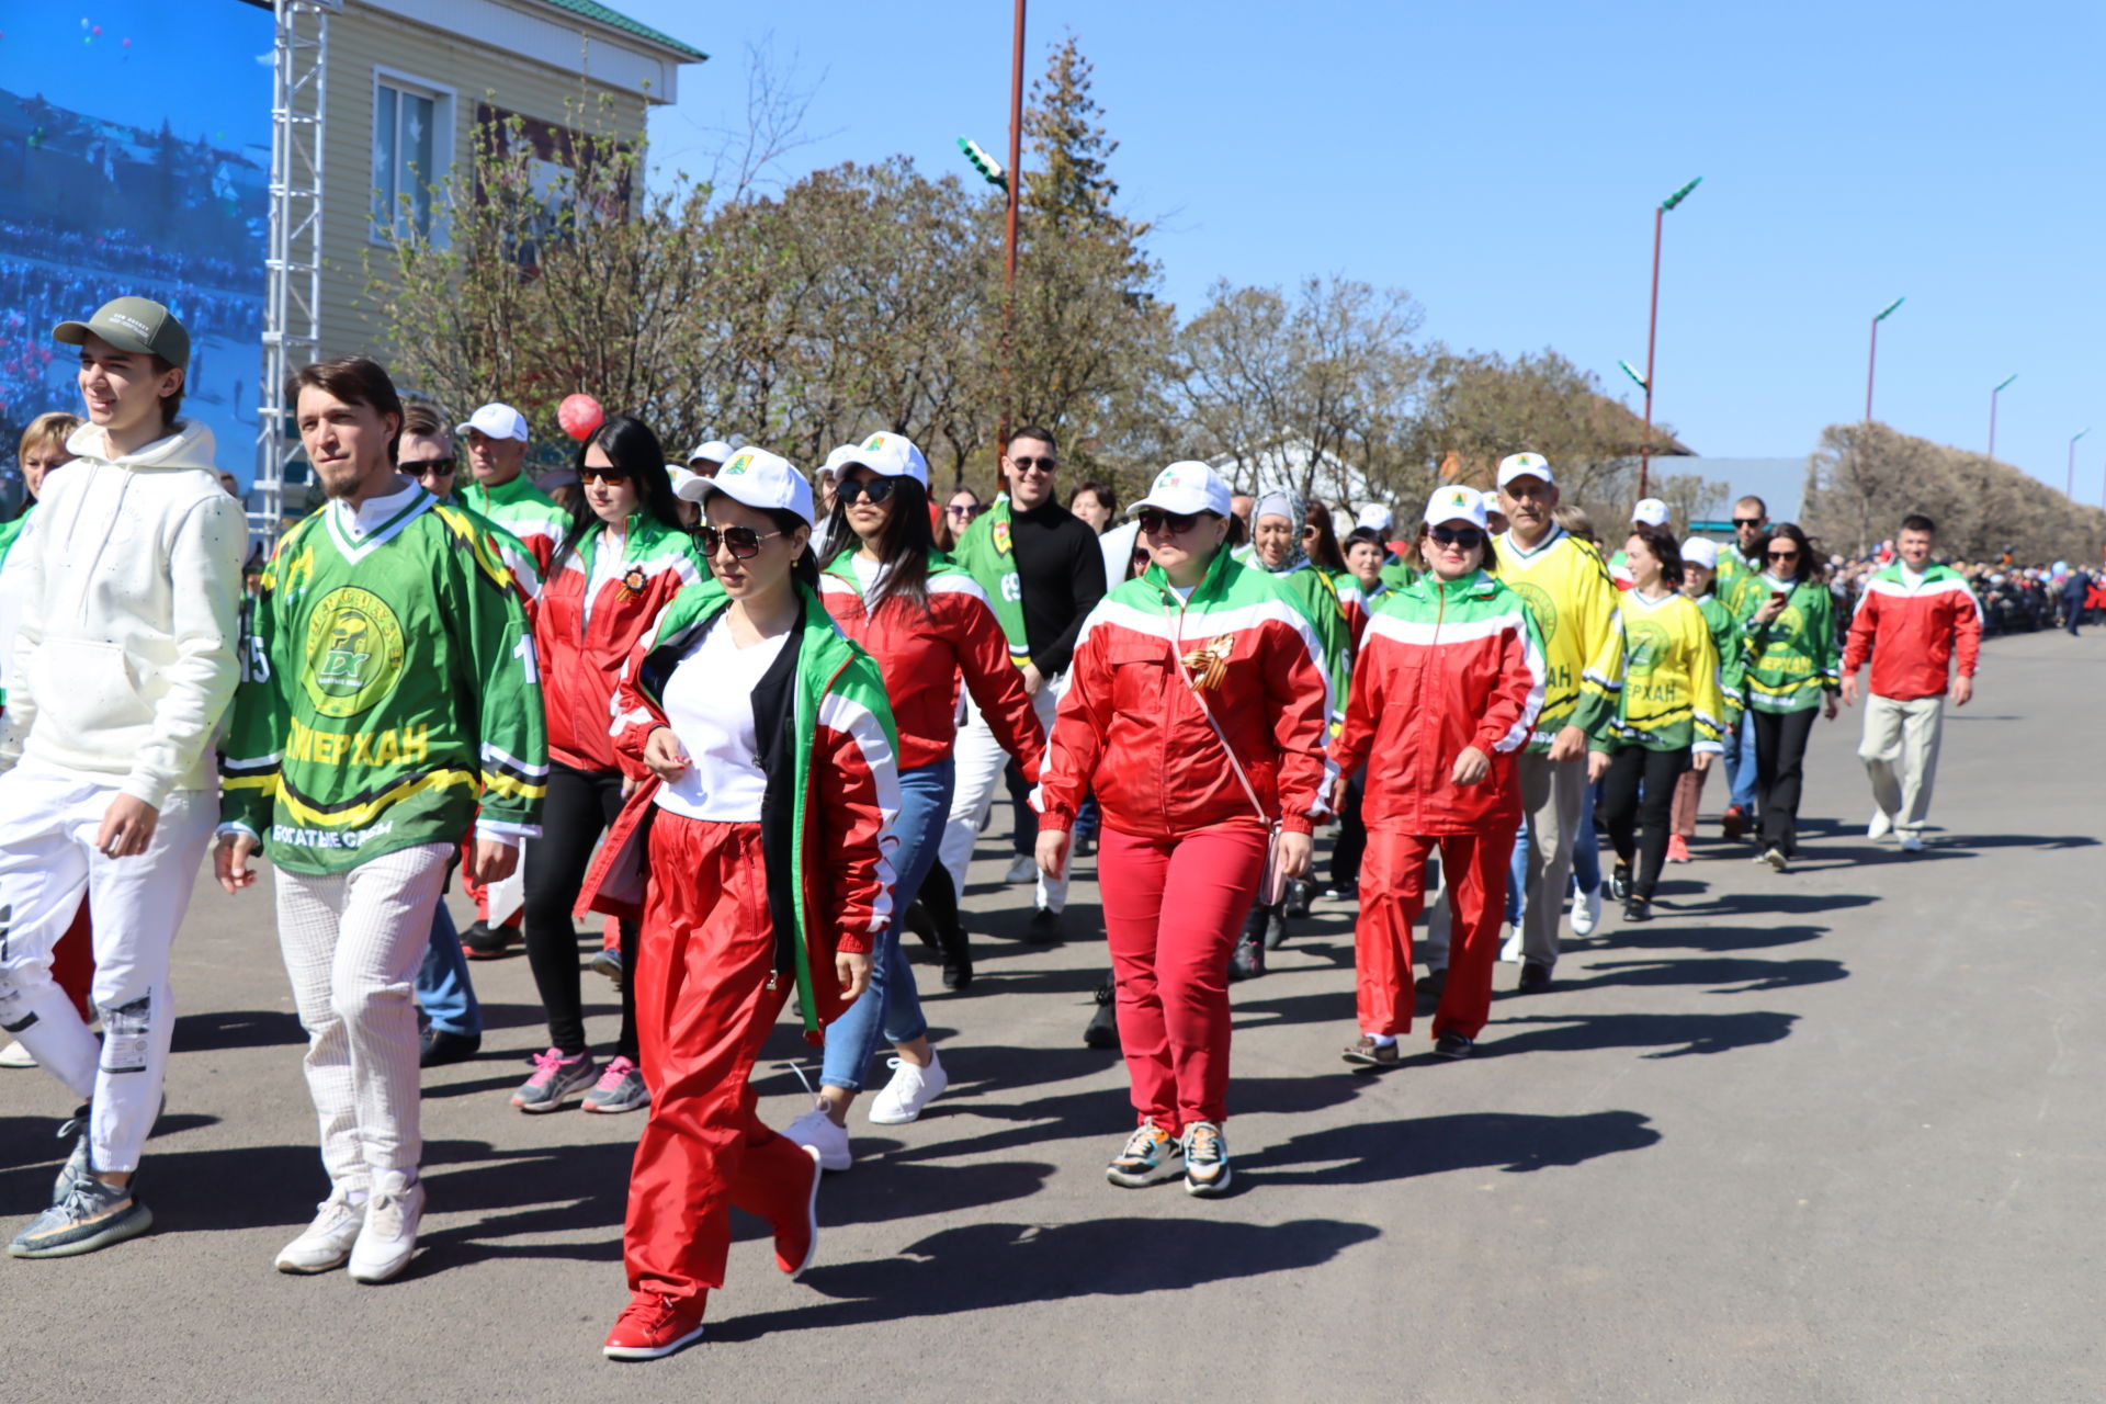
<path id="1" fill-rule="evenodd" d="M 202 791 L 173 794 L 145 853 L 105 859 L 95 836 L 116 798 L 110 777 L 34 760 L 0 775 L 0 1027 L 93 1103 L 91 1164 L 131 1175 L 160 1114 L 175 1034 L 168 949 L 213 842 L 217 804 Z M 51 951 L 82 892 L 95 926 L 101 1044 L 51 979 Z"/>

